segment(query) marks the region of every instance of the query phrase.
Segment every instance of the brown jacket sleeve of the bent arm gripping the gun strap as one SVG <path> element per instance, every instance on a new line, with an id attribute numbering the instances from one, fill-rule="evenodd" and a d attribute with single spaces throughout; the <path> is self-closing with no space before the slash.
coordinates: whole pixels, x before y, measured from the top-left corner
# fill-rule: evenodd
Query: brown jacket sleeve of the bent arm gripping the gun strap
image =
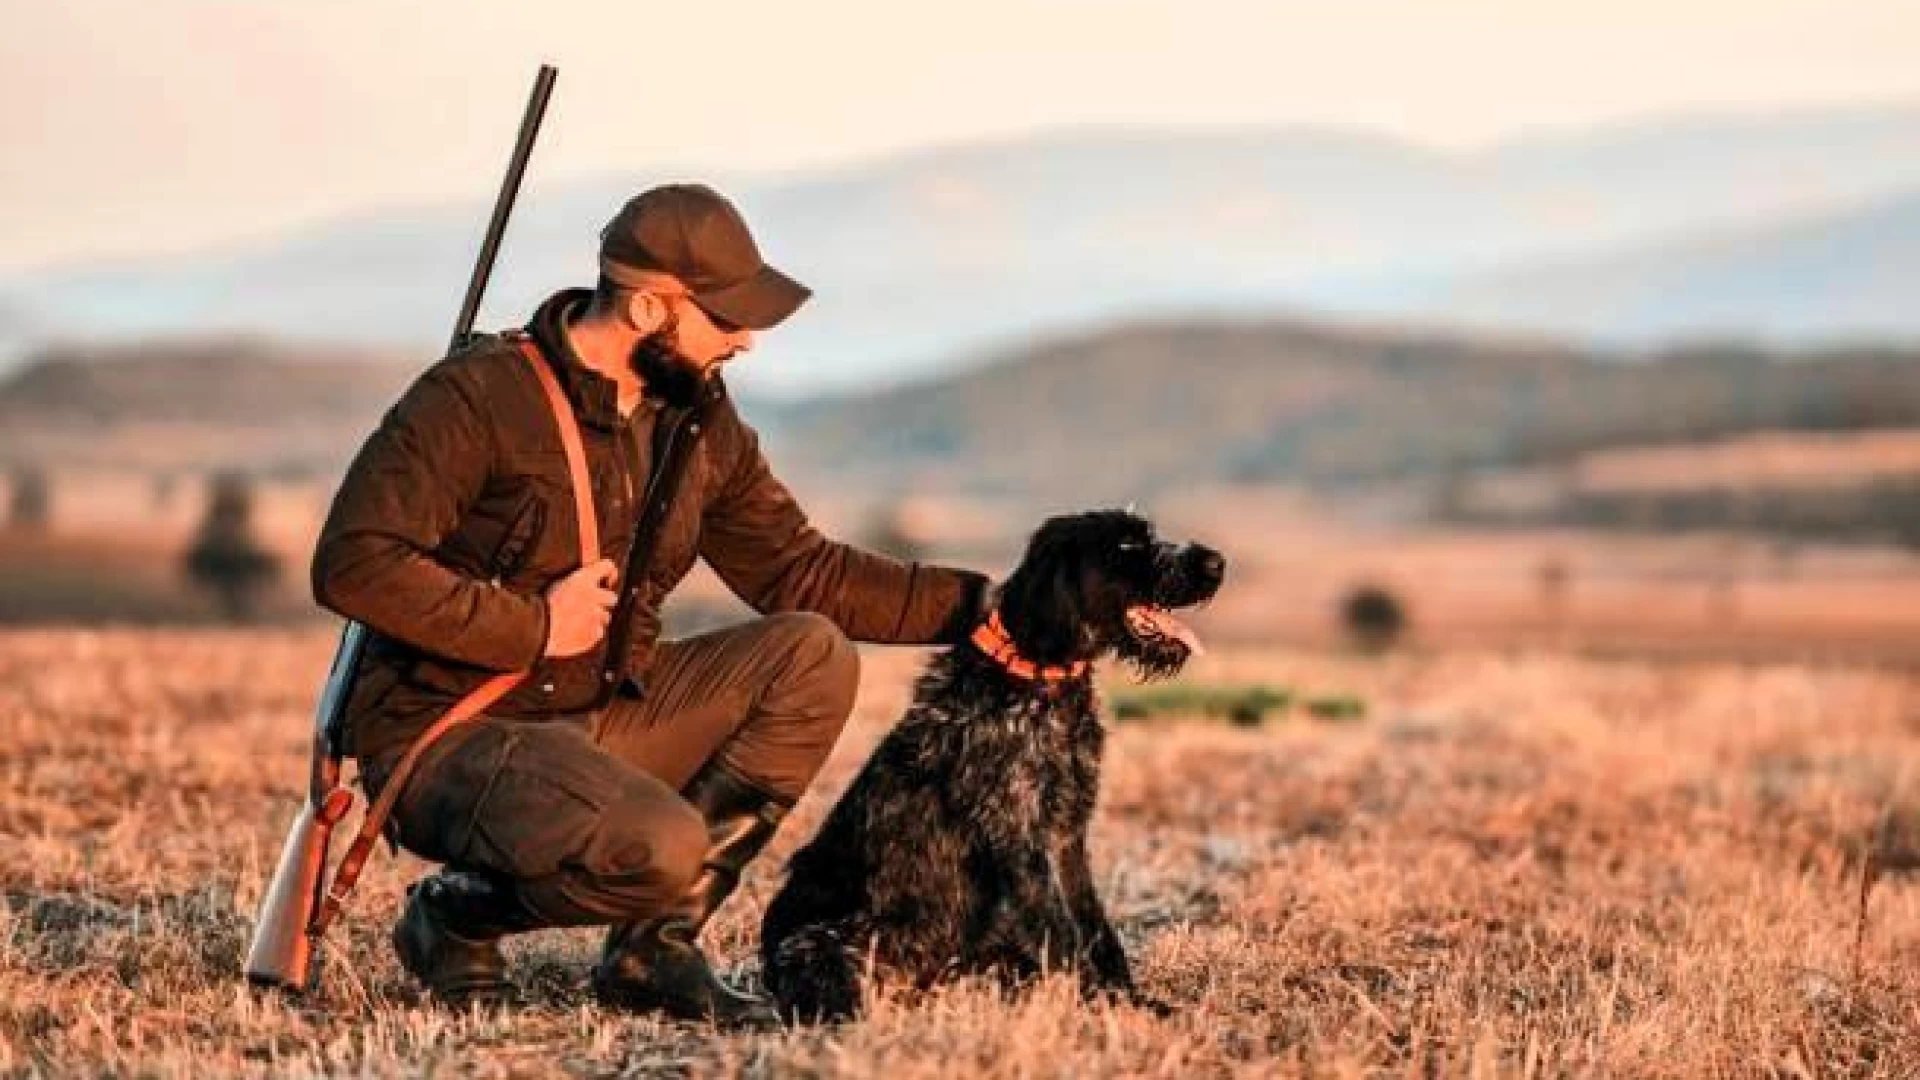
<path id="1" fill-rule="evenodd" d="M 434 557 L 486 482 L 493 438 L 451 365 L 388 409 L 334 494 L 313 550 L 313 598 L 445 659 L 520 671 L 545 651 L 547 603 Z"/>

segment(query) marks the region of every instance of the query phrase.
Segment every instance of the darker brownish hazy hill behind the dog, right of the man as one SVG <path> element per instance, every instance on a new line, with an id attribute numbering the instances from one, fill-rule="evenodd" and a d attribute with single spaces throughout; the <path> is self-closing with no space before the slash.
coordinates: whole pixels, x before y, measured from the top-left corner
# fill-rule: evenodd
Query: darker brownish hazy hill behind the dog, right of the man
<path id="1" fill-rule="evenodd" d="M 1434 488 L 1476 469 L 1743 432 L 1920 427 L 1920 352 L 1653 356 L 1302 321 L 1064 338 L 797 405 L 776 461 L 845 488 L 1123 502 L 1208 484 Z"/>

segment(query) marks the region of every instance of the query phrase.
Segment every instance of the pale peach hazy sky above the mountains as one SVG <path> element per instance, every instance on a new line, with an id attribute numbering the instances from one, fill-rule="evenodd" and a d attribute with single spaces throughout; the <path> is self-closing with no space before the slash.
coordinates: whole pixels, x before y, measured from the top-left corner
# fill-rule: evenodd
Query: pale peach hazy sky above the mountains
<path id="1" fill-rule="evenodd" d="M 1069 123 L 1540 127 L 1920 100 L 1920 0 L 8 0 L 0 271 L 534 183 Z"/>

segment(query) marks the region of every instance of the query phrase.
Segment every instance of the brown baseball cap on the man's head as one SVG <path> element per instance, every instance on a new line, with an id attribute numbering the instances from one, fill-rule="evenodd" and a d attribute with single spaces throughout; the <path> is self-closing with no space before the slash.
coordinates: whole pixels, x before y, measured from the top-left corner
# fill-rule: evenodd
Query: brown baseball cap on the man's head
<path id="1" fill-rule="evenodd" d="M 601 273 L 643 286 L 670 273 L 708 315 L 749 331 L 780 325 L 812 290 L 766 265 L 747 219 L 707 184 L 660 184 L 626 200 L 601 229 Z"/>

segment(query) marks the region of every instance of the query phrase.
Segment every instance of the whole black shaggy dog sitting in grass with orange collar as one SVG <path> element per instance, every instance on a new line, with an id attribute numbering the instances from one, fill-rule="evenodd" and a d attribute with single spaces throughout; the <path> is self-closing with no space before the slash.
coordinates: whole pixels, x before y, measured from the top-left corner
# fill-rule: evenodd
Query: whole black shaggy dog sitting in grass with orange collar
<path id="1" fill-rule="evenodd" d="M 852 1017 L 870 961 L 922 988 L 1073 970 L 1087 994 L 1137 997 L 1087 867 L 1102 744 L 1089 663 L 1112 651 L 1142 676 L 1179 671 L 1198 640 L 1167 609 L 1210 600 L 1223 573 L 1217 552 L 1164 544 L 1131 513 L 1046 521 L 993 619 L 927 665 L 793 855 L 760 922 L 781 1011 Z"/>

